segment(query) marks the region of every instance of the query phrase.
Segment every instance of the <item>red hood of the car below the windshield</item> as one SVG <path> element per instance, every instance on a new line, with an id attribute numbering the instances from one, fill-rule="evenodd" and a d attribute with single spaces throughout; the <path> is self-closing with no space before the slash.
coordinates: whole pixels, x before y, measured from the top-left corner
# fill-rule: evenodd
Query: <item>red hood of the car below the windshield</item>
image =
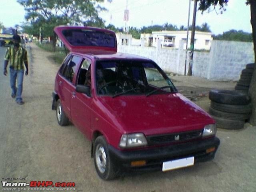
<path id="1" fill-rule="evenodd" d="M 100 97 L 100 102 L 110 112 L 110 121 L 116 121 L 124 133 L 167 134 L 199 130 L 215 123 L 210 115 L 179 93 Z"/>

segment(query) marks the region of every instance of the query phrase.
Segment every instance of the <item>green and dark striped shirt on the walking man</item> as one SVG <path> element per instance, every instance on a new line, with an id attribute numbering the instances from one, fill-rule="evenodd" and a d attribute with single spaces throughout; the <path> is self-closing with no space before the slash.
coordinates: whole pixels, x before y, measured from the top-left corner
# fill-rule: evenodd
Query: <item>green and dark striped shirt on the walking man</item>
<path id="1" fill-rule="evenodd" d="M 27 51 L 22 46 L 19 46 L 17 51 L 14 46 L 8 47 L 4 59 L 10 60 L 10 66 L 14 70 L 24 69 L 24 62 L 28 61 Z"/>

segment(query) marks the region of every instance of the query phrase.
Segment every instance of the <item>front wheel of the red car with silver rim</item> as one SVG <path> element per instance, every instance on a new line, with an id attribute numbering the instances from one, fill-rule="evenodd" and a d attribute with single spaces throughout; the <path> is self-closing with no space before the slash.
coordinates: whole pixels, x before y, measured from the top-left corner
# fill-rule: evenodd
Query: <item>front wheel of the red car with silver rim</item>
<path id="1" fill-rule="evenodd" d="M 98 136 L 94 141 L 93 156 L 94 165 L 100 178 L 103 180 L 112 180 L 116 178 L 117 172 L 111 161 L 108 144 L 104 136 Z"/>

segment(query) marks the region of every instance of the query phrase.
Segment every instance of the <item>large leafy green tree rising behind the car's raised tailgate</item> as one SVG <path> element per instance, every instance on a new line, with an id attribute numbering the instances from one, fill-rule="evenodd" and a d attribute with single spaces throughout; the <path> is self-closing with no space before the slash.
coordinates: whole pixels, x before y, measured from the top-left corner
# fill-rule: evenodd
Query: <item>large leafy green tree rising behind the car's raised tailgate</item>
<path id="1" fill-rule="evenodd" d="M 111 2 L 112 0 L 107 0 Z M 100 6 L 104 0 L 17 0 L 26 10 L 26 20 L 43 36 L 54 36 L 53 28 L 58 25 L 89 25 L 104 27 L 98 16 L 106 8 Z M 55 46 L 55 38 L 53 38 Z"/>

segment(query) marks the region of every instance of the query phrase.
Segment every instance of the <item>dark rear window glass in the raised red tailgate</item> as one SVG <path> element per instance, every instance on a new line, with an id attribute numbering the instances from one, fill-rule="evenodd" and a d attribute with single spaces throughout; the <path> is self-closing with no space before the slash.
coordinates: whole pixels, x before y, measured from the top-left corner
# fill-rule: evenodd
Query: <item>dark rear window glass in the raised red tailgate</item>
<path id="1" fill-rule="evenodd" d="M 101 46 L 116 47 L 116 38 L 114 34 L 86 29 L 63 30 L 63 35 L 73 46 Z"/>

